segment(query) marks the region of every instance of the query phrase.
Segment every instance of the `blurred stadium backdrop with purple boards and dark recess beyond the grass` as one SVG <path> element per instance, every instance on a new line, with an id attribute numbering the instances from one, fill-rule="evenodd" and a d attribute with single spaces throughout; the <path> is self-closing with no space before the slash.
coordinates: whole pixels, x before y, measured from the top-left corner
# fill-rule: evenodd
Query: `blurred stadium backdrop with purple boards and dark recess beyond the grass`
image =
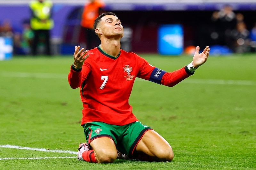
<path id="1" fill-rule="evenodd" d="M 256 48 L 256 0 L 103 0 L 124 26 L 122 49 L 162 55 L 252 53 Z M 30 55 L 30 0 L 0 1 L 0 59 Z M 80 22 L 86 0 L 52 0 L 53 55 L 86 48 Z M 44 48 L 42 43 L 41 48 Z"/>

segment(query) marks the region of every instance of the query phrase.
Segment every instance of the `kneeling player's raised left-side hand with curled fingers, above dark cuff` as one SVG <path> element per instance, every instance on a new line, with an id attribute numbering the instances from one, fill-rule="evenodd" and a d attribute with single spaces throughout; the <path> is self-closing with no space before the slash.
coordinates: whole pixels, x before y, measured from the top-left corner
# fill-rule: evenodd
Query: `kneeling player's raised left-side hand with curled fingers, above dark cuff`
<path id="1" fill-rule="evenodd" d="M 88 52 L 88 50 L 84 51 L 84 48 L 80 49 L 80 46 L 76 46 L 75 47 L 75 52 L 74 52 L 74 63 L 73 66 L 76 69 L 80 69 L 82 67 L 82 65 L 84 64 L 84 61 L 86 60 L 86 58 L 89 57 L 89 54 L 86 55 L 86 53 Z"/>

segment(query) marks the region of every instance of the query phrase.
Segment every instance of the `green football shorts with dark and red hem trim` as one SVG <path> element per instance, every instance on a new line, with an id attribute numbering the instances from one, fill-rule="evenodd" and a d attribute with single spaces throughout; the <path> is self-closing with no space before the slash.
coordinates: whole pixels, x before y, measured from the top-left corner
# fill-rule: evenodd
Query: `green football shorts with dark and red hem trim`
<path id="1" fill-rule="evenodd" d="M 133 122 L 124 126 L 111 125 L 103 122 L 89 122 L 82 125 L 87 143 L 98 137 L 109 137 L 116 144 L 116 149 L 131 156 L 144 133 L 151 128 Z"/>

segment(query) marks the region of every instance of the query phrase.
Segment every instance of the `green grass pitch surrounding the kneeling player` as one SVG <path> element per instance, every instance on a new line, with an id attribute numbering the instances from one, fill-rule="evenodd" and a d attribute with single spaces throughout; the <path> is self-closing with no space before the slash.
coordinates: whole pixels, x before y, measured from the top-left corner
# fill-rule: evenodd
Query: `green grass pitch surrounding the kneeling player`
<path id="1" fill-rule="evenodd" d="M 192 60 L 141 56 L 166 71 Z M 84 135 L 79 90 L 67 81 L 72 62 L 72 55 L 0 61 L 1 146 L 77 151 Z M 0 169 L 256 169 L 255 63 L 255 54 L 210 56 L 172 88 L 136 79 L 133 113 L 171 144 L 172 162 L 93 164 L 52 158 L 75 157 L 72 153 L 0 147 Z M 17 159 L 41 157 L 51 158 Z"/>

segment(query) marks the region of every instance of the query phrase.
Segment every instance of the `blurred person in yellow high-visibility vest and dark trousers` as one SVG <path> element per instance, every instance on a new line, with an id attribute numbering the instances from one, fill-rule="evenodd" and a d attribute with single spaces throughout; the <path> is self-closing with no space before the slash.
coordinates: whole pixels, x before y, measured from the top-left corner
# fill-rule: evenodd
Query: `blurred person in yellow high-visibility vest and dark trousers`
<path id="1" fill-rule="evenodd" d="M 32 0 L 29 4 L 32 16 L 30 19 L 31 29 L 34 32 L 34 41 L 32 43 L 32 55 L 37 55 L 37 48 L 40 39 L 45 44 L 45 54 L 51 55 L 50 49 L 50 30 L 54 26 L 52 20 L 52 1 L 50 0 Z M 43 37 L 44 36 L 44 37 Z"/>

